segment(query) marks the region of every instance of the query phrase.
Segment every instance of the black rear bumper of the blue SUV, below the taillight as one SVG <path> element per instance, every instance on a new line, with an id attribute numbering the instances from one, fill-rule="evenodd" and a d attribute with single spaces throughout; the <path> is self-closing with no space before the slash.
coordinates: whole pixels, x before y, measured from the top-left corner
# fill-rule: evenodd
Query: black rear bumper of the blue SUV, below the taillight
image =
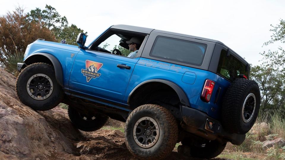
<path id="1" fill-rule="evenodd" d="M 245 134 L 226 132 L 219 121 L 209 117 L 206 113 L 185 106 L 181 106 L 180 111 L 182 119 L 186 124 L 184 129 L 188 132 L 208 140 L 215 140 L 221 137 L 234 145 L 241 145 L 245 140 Z"/>

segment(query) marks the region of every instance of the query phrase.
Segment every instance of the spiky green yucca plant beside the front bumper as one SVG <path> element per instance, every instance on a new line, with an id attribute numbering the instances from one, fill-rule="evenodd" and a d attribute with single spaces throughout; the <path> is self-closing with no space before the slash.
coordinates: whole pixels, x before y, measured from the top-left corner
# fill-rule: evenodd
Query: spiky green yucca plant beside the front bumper
<path id="1" fill-rule="evenodd" d="M 9 55 L 6 60 L 5 70 L 15 77 L 19 76 L 19 71 L 17 69 L 17 63 L 24 63 L 24 52 L 16 52 L 12 55 Z"/>

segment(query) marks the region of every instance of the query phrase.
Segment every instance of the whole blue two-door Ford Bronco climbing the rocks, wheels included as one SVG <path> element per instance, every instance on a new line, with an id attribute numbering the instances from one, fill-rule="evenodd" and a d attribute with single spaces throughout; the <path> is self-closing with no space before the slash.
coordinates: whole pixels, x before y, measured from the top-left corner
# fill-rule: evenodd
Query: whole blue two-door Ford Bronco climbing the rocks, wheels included
<path id="1" fill-rule="evenodd" d="M 213 158 L 254 125 L 259 87 L 249 63 L 222 42 L 129 25 L 111 26 L 88 46 L 86 38 L 29 44 L 18 63 L 20 101 L 39 111 L 65 103 L 82 131 L 109 117 L 126 122 L 126 146 L 139 159 L 163 159 L 178 142 L 180 153 Z"/>

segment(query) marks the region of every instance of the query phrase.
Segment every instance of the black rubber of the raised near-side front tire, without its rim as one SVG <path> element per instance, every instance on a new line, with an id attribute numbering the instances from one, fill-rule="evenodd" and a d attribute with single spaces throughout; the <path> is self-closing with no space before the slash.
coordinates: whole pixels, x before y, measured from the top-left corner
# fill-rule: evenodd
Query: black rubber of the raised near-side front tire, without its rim
<path id="1" fill-rule="evenodd" d="M 45 74 L 53 82 L 53 91 L 44 100 L 33 99 L 27 91 L 27 82 L 35 74 Z M 54 68 L 47 63 L 33 63 L 24 68 L 16 81 L 16 93 L 23 104 L 37 111 L 47 111 L 56 107 L 64 97 L 62 87 L 56 81 Z"/>

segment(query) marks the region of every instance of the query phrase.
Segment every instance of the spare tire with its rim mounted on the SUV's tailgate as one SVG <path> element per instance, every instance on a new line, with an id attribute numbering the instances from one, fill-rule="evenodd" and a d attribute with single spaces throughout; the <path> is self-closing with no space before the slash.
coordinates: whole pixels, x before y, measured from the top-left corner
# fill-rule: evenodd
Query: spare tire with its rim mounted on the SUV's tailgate
<path id="1" fill-rule="evenodd" d="M 254 125 L 260 107 L 260 90 L 255 81 L 237 78 L 227 89 L 222 103 L 222 124 L 231 133 L 246 134 Z"/>

